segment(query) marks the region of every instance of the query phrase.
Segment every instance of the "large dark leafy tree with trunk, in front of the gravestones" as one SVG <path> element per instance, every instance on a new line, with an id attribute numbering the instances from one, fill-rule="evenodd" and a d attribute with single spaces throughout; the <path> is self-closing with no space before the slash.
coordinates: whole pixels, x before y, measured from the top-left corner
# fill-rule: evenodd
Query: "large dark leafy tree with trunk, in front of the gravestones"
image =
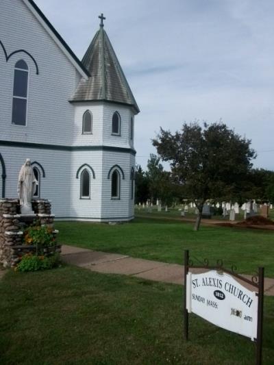
<path id="1" fill-rule="evenodd" d="M 152 140 L 158 154 L 171 164 L 173 179 L 195 201 L 199 229 L 203 205 L 208 199 L 231 199 L 242 190 L 256 152 L 251 140 L 242 138 L 224 123 L 184 123 L 181 131 L 160 129 Z"/>

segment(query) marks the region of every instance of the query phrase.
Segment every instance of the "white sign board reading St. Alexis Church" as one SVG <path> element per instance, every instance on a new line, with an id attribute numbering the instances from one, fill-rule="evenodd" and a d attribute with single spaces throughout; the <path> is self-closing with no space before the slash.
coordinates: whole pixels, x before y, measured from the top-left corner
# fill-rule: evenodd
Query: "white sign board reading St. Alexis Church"
<path id="1" fill-rule="evenodd" d="M 216 270 L 188 273 L 186 309 L 218 327 L 257 337 L 258 297 L 231 275 Z"/>

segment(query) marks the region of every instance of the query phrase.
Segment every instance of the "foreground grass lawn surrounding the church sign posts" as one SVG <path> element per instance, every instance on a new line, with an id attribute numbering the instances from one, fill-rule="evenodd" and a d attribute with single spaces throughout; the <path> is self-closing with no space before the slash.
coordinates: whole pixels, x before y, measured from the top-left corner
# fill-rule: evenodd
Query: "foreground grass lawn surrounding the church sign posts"
<path id="1" fill-rule="evenodd" d="M 255 364 L 255 344 L 190 316 L 182 286 L 64 266 L 0 281 L 0 363 Z M 274 298 L 265 298 L 264 364 L 274 359 Z"/>

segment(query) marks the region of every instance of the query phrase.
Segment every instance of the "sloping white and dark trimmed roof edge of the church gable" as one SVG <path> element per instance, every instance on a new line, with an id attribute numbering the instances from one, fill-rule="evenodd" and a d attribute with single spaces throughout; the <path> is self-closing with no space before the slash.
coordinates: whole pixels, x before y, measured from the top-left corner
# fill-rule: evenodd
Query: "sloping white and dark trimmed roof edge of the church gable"
<path id="1" fill-rule="evenodd" d="M 57 30 L 53 27 L 53 25 L 49 22 L 47 17 L 42 13 L 42 11 L 38 8 L 36 3 L 33 0 L 22 0 L 23 3 L 29 8 L 29 10 L 34 14 L 40 24 L 45 28 L 45 30 L 49 33 L 51 38 L 53 38 L 54 42 L 60 47 L 63 53 L 67 58 L 72 62 L 73 66 L 77 68 L 80 75 L 87 79 L 90 76 L 90 73 L 86 69 L 86 67 L 82 64 L 82 62 L 77 58 L 75 53 L 71 50 L 71 47 L 66 44 L 64 39 L 60 36 Z"/>

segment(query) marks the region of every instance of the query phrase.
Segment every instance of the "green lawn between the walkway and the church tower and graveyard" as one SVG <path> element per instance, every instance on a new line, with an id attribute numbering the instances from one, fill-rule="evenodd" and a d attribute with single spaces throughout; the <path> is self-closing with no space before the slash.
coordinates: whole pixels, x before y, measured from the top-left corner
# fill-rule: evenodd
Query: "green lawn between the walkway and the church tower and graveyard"
<path id="1" fill-rule="evenodd" d="M 264 266 L 266 277 L 274 277 L 273 231 L 201 226 L 194 232 L 192 223 L 145 217 L 123 225 L 58 222 L 55 227 L 64 244 L 177 264 L 183 264 L 184 249 L 189 249 L 212 263 L 236 264 L 240 273 Z"/>

